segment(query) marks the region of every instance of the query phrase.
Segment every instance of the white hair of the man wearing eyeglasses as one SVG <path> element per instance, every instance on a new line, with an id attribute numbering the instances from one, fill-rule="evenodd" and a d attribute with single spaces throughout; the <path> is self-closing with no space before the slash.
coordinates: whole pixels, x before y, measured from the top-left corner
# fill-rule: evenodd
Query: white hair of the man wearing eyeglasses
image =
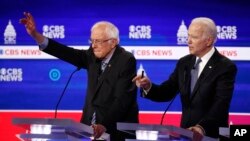
<path id="1" fill-rule="evenodd" d="M 92 26 L 91 32 L 99 26 L 104 26 L 105 33 L 109 36 L 109 38 L 115 38 L 115 39 L 117 39 L 117 42 L 119 43 L 119 41 L 120 41 L 119 30 L 114 24 L 112 24 L 111 22 L 108 22 L 108 21 L 97 22 Z"/>

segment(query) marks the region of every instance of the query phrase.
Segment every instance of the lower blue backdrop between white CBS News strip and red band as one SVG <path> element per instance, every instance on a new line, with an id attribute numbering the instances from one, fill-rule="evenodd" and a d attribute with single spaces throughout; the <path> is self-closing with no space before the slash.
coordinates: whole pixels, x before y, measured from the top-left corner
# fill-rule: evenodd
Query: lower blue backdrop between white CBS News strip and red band
<path id="1" fill-rule="evenodd" d="M 176 61 L 155 60 L 141 61 L 148 77 L 157 84 L 166 80 L 172 73 Z M 231 105 L 231 112 L 250 111 L 249 62 L 235 62 L 238 66 L 235 91 Z M 156 65 L 157 64 L 157 69 Z M 2 68 L 22 68 L 22 82 L 1 82 L 1 109 L 47 109 L 53 110 L 62 93 L 70 74 L 76 67 L 60 60 L 1 60 Z M 53 70 L 60 72 L 57 77 L 51 75 Z M 61 101 L 59 109 L 80 110 L 85 101 L 87 88 L 86 71 L 76 72 Z M 167 93 L 166 93 L 167 94 Z M 156 103 L 143 99 L 138 93 L 140 110 L 160 111 L 166 108 L 168 102 Z M 171 109 L 180 111 L 179 96 L 175 99 Z"/>

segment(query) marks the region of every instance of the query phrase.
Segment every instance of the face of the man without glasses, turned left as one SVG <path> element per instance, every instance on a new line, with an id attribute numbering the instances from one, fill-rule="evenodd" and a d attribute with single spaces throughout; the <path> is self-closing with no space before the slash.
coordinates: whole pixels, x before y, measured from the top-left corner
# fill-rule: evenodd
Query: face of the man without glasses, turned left
<path id="1" fill-rule="evenodd" d="M 188 47 L 190 54 L 198 57 L 205 55 L 211 48 L 211 38 L 206 37 L 204 28 L 198 23 L 193 23 L 188 29 Z"/>

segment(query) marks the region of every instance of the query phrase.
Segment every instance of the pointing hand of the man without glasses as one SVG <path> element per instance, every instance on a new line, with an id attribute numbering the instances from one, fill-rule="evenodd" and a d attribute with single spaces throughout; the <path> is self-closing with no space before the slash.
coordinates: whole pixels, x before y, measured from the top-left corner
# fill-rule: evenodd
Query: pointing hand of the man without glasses
<path id="1" fill-rule="evenodd" d="M 137 87 L 141 87 L 144 90 L 149 90 L 151 87 L 151 82 L 148 77 L 142 77 L 141 75 L 137 75 L 136 77 L 133 78 L 132 82 L 135 82 Z"/>

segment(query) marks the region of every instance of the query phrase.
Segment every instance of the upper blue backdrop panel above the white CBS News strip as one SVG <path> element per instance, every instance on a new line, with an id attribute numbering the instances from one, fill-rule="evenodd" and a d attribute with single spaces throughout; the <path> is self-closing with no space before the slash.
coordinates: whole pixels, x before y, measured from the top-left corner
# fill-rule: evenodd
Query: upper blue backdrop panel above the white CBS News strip
<path id="1" fill-rule="evenodd" d="M 3 0 L 0 4 L 0 33 L 4 33 L 11 20 L 18 33 L 17 44 L 35 44 L 19 24 L 23 12 L 28 11 L 35 17 L 37 29 L 41 32 L 44 25 L 63 25 L 65 38 L 58 40 L 66 44 L 88 44 L 91 26 L 97 21 L 107 20 L 120 29 L 123 45 L 177 45 L 176 34 L 182 20 L 188 26 L 194 17 L 207 16 L 220 26 L 236 27 L 226 31 L 224 28 L 228 37 L 219 40 L 217 45 L 250 45 L 250 20 L 247 16 L 250 4 L 247 0 Z M 151 38 L 131 40 L 128 36 L 130 25 L 150 25 Z M 237 40 L 229 40 L 234 30 Z M 3 40 L 0 40 L 1 44 Z"/>

